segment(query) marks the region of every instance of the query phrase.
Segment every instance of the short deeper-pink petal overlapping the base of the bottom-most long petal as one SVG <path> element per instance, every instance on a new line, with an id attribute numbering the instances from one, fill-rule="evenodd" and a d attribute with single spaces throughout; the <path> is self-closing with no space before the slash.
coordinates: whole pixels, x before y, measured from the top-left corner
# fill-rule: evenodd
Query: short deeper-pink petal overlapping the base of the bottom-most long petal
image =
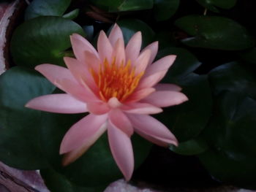
<path id="1" fill-rule="evenodd" d="M 129 122 L 127 115 L 124 114 L 121 110 L 114 109 L 108 113 L 108 117 L 111 123 L 117 128 L 120 128 L 121 131 L 126 133 L 129 137 L 133 134 L 132 123 Z"/>

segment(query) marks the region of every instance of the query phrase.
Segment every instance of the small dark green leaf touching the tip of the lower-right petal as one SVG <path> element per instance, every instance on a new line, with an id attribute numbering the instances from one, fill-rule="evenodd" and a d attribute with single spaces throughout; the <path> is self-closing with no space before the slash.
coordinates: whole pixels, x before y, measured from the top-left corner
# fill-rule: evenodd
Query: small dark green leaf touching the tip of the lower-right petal
<path id="1" fill-rule="evenodd" d="M 180 142 L 178 147 L 171 145 L 170 150 L 180 155 L 197 155 L 208 150 L 208 145 L 202 139 L 191 139 Z"/>

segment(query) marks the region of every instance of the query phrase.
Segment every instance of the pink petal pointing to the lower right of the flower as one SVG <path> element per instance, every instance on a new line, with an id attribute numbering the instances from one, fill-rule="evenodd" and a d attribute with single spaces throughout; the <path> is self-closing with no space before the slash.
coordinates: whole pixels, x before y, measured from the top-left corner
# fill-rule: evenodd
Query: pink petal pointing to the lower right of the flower
<path id="1" fill-rule="evenodd" d="M 161 122 L 152 118 L 149 115 L 127 115 L 129 120 L 131 120 L 135 131 L 138 133 L 143 133 L 149 137 L 153 137 L 162 142 L 168 144 L 178 145 L 176 137 L 170 132 L 170 130 Z M 143 135 L 142 135 L 143 136 Z M 146 138 L 149 139 L 149 138 Z M 155 142 L 152 140 L 152 142 Z"/>

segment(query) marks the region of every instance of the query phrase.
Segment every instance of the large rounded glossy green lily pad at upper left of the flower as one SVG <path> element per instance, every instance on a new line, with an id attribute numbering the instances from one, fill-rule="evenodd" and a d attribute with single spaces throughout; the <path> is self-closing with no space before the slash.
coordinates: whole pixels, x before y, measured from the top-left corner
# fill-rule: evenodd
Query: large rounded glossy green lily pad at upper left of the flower
<path id="1" fill-rule="evenodd" d="M 16 28 L 11 41 L 15 64 L 34 67 L 38 64 L 64 64 L 64 51 L 71 45 L 69 35 L 83 34 L 72 20 L 45 16 L 27 20 Z"/>

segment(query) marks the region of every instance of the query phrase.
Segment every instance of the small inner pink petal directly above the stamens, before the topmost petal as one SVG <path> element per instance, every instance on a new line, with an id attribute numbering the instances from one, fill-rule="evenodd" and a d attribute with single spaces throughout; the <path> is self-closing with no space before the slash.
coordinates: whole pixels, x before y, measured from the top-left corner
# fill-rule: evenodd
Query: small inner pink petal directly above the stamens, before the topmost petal
<path id="1" fill-rule="evenodd" d="M 118 39 L 116 45 L 113 49 L 112 58 L 116 58 L 116 65 L 124 64 L 125 60 L 125 51 L 124 51 L 124 42 L 121 39 Z"/>

